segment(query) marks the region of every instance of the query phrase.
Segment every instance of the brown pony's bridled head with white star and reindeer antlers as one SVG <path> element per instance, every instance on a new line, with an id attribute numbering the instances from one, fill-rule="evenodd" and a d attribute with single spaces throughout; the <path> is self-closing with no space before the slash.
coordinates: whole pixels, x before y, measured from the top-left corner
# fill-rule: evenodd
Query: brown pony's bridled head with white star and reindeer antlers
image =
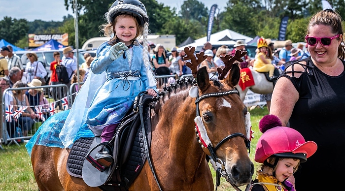
<path id="1" fill-rule="evenodd" d="M 197 54 L 197 62 L 193 63 L 192 51 L 185 52 L 192 61 L 188 65 L 197 82 L 197 86 L 190 89 L 189 96 L 196 97 L 194 121 L 198 141 L 203 151 L 221 164 L 230 184 L 249 184 L 254 173 L 254 165 L 248 157 L 251 125 L 250 114 L 235 90 L 240 80 L 240 68 L 233 63 L 239 58 L 236 55 L 223 57 L 226 67 L 224 72 L 218 68 L 220 80 L 210 80 L 206 67 L 193 68 L 204 55 Z"/>

